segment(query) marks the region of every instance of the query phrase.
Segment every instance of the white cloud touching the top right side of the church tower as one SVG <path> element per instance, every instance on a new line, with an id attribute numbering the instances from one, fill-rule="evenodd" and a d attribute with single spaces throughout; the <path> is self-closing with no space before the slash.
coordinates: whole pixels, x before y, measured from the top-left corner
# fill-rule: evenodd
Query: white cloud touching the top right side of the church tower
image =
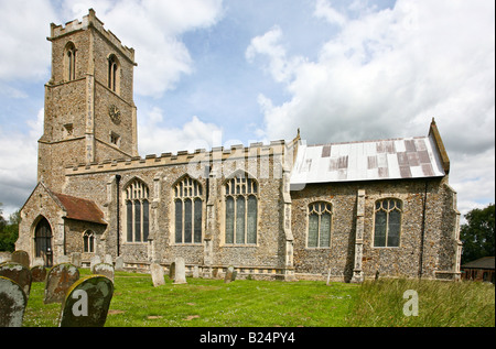
<path id="1" fill-rule="evenodd" d="M 64 1 L 67 18 L 80 18 L 94 7 L 105 26 L 136 50 L 137 95 L 161 97 L 181 76 L 194 70 L 181 35 L 214 25 L 223 15 L 222 0 Z"/>

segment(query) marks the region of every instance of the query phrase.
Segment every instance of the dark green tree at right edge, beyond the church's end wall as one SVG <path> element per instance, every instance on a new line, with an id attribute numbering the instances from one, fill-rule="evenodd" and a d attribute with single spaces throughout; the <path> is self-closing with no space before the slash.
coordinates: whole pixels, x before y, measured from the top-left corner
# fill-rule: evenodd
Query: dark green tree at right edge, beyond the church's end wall
<path id="1" fill-rule="evenodd" d="M 463 242 L 462 264 L 494 253 L 494 216 L 495 205 L 486 208 L 474 208 L 465 215 L 466 223 L 462 225 L 460 239 Z"/>

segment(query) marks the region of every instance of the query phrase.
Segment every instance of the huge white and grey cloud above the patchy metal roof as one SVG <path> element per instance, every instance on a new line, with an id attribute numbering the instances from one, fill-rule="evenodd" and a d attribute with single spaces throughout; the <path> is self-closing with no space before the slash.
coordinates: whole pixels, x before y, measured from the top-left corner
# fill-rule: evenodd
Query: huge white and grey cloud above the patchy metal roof
<path id="1" fill-rule="evenodd" d="M 311 142 L 423 135 L 435 117 L 450 149 L 494 146 L 493 10 L 487 1 L 400 0 L 345 20 L 316 1 L 315 15 L 342 25 L 319 59 L 288 56 L 278 28 L 247 48 L 291 96 L 280 105 L 259 98 L 266 134 L 289 138 L 300 127 Z"/>

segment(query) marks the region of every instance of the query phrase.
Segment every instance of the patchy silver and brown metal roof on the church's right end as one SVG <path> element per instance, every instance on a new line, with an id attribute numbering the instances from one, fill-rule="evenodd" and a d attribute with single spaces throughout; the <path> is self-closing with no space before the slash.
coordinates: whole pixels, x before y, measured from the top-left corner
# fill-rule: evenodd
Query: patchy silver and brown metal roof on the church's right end
<path id="1" fill-rule="evenodd" d="M 431 137 L 300 144 L 291 184 L 444 176 Z"/>

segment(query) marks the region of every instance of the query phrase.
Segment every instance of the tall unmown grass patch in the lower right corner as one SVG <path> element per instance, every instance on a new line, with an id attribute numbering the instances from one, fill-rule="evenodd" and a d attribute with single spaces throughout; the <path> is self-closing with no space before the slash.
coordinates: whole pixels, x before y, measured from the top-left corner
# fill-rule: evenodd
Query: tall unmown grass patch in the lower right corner
<path id="1" fill-rule="evenodd" d="M 418 316 L 412 290 L 418 295 Z M 407 304 L 408 303 L 408 304 Z M 379 280 L 365 282 L 354 299 L 349 326 L 468 327 L 495 326 L 495 287 L 479 282 Z"/>

